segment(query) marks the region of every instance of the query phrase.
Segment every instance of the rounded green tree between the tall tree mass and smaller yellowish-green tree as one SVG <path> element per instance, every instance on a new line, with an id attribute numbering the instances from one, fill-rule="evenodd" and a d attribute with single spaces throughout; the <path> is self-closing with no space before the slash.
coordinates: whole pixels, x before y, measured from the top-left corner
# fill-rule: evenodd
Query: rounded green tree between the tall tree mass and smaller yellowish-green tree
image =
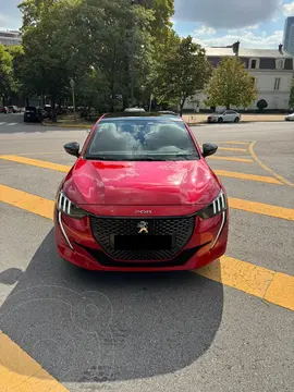
<path id="1" fill-rule="evenodd" d="M 174 46 L 162 54 L 155 93 L 159 102 L 177 103 L 182 114 L 186 99 L 204 89 L 211 74 L 211 66 L 206 59 L 205 49 L 194 44 L 191 36 L 177 42 L 174 39 Z"/>

